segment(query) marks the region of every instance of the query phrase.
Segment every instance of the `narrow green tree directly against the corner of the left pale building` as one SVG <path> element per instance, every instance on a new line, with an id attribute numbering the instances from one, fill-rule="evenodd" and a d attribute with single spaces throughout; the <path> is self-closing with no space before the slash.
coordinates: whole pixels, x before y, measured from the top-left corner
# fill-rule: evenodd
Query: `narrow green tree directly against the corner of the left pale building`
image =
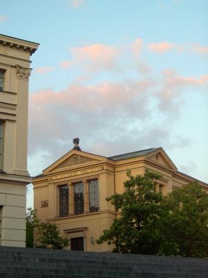
<path id="1" fill-rule="evenodd" d="M 28 208 L 26 213 L 26 247 L 33 247 L 34 242 L 34 227 L 40 220 L 37 219 L 37 211 L 33 208 Z"/>

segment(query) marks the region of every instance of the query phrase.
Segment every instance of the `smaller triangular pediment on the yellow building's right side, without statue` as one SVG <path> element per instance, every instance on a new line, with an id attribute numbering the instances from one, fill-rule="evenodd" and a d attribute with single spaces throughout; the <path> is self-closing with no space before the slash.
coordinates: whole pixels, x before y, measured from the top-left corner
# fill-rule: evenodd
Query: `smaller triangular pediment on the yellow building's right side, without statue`
<path id="1" fill-rule="evenodd" d="M 157 163 L 168 169 L 177 170 L 177 167 L 175 166 L 173 161 L 171 161 L 171 158 L 168 157 L 168 155 L 162 148 L 159 148 L 155 152 L 148 154 L 146 158 L 148 159 L 148 161 L 153 161 L 154 163 Z"/>

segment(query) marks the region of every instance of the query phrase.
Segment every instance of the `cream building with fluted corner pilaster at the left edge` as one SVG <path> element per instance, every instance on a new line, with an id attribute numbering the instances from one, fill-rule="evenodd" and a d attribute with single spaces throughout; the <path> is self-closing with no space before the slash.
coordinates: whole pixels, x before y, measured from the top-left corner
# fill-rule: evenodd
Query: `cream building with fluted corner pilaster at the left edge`
<path id="1" fill-rule="evenodd" d="M 26 245 L 28 79 L 39 44 L 0 35 L 0 245 Z"/>

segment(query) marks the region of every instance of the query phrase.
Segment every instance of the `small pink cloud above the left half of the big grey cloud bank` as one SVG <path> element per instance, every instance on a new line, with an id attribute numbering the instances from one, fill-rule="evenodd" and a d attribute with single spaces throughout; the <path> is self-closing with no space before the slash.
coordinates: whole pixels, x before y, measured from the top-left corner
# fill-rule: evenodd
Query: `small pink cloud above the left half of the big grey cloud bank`
<path id="1" fill-rule="evenodd" d="M 116 67 L 119 50 L 105 44 L 92 44 L 86 47 L 71 47 L 71 54 L 79 63 L 85 63 L 89 69 L 110 70 Z"/>

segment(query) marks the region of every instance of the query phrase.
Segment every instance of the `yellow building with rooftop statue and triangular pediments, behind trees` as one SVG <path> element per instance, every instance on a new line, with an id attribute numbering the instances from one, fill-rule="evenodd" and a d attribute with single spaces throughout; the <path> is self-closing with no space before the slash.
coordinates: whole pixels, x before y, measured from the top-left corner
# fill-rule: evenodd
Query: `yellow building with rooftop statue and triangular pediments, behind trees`
<path id="1" fill-rule="evenodd" d="M 78 141 L 74 139 L 70 152 L 33 179 L 37 217 L 57 224 L 70 239 L 71 250 L 112 250 L 95 240 L 116 218 L 105 198 L 123 192 L 128 169 L 133 175 L 143 174 L 146 167 L 162 174 L 157 190 L 163 194 L 196 180 L 178 172 L 162 147 L 104 157 L 81 151 Z M 208 190 L 207 183 L 198 182 Z"/>

